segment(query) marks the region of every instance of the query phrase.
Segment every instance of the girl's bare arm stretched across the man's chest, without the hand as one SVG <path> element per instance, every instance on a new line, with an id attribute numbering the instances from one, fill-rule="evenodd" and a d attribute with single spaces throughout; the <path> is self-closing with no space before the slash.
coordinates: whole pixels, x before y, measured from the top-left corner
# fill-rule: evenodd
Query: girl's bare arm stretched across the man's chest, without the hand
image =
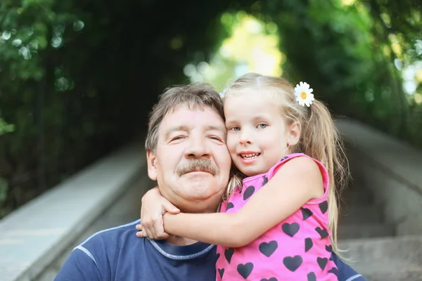
<path id="1" fill-rule="evenodd" d="M 313 198 L 324 195 L 321 172 L 307 157 L 291 159 L 237 213 L 165 214 L 166 233 L 224 247 L 243 247 Z"/>

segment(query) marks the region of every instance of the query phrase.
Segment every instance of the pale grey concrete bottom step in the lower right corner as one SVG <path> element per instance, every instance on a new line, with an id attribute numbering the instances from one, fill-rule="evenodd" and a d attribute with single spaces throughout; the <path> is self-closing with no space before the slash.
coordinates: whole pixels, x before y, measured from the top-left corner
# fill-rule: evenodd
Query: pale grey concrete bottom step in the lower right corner
<path id="1" fill-rule="evenodd" d="M 369 281 L 421 281 L 422 236 L 343 240 L 340 249 L 352 268 Z"/>

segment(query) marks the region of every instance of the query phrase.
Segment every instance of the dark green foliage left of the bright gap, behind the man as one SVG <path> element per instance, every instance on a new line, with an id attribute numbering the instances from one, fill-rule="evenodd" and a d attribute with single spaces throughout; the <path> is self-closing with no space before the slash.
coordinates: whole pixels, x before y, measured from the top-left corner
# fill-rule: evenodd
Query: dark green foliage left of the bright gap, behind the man
<path id="1" fill-rule="evenodd" d="M 0 124 L 0 217 L 142 136 L 162 89 L 186 83 L 186 62 L 224 38 L 217 15 L 227 8 L 1 0 L 0 112 L 13 126 Z"/>

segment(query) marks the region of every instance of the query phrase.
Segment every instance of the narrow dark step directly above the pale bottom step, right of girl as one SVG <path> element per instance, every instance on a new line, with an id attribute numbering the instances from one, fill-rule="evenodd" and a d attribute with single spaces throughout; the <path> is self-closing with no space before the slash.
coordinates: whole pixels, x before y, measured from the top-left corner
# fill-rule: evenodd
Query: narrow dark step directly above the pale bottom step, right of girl
<path id="1" fill-rule="evenodd" d="M 388 237 L 395 235 L 395 228 L 387 223 L 348 223 L 338 226 L 338 239 Z"/>

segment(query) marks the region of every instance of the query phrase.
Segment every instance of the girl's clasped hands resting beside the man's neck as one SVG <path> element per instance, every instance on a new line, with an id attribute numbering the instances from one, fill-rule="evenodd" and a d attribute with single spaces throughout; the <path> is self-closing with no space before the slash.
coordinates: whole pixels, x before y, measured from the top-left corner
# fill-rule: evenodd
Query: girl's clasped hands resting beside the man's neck
<path id="1" fill-rule="evenodd" d="M 148 237 L 153 240 L 167 239 L 170 237 L 164 232 L 162 215 L 168 211 L 171 214 L 179 213 L 169 200 L 162 197 L 158 187 L 148 190 L 141 200 L 141 224 L 136 225 L 138 237 Z"/>

